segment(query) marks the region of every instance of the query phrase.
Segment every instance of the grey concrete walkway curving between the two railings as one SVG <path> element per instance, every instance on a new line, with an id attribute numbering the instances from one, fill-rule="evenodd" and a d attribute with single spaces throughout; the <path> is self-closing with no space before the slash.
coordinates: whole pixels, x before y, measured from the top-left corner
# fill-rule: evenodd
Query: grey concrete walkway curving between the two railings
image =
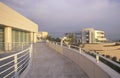
<path id="1" fill-rule="evenodd" d="M 25 78 L 88 78 L 78 65 L 47 47 L 34 46 L 33 62 Z"/>

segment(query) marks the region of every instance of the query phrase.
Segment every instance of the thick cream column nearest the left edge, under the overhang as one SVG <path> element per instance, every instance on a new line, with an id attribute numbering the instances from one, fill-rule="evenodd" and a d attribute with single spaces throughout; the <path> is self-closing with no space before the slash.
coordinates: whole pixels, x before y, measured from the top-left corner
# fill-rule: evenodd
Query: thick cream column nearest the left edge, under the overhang
<path id="1" fill-rule="evenodd" d="M 4 30 L 4 39 L 5 39 L 5 51 L 9 51 L 12 49 L 12 28 L 5 27 Z"/>

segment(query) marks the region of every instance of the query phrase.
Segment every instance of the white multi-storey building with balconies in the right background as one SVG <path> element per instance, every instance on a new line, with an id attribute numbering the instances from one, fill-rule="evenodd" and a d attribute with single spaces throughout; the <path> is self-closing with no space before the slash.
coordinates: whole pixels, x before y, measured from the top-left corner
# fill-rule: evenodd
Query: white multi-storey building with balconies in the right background
<path id="1" fill-rule="evenodd" d="M 82 30 L 82 43 L 102 43 L 106 42 L 104 31 L 85 28 Z"/>

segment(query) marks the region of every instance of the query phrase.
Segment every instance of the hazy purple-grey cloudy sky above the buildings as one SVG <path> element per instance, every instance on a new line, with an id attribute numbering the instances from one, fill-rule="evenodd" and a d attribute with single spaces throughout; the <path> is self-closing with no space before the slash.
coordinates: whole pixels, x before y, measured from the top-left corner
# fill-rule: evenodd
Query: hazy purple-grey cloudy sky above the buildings
<path id="1" fill-rule="evenodd" d="M 39 25 L 39 31 L 60 36 L 95 28 L 120 39 L 120 0 L 0 0 Z"/>

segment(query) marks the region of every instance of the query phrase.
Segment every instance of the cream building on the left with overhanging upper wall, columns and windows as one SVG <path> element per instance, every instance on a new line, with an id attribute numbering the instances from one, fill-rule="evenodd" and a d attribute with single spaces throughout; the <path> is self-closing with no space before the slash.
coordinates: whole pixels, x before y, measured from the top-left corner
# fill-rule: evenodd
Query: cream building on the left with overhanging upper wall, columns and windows
<path id="1" fill-rule="evenodd" d="M 0 2 L 0 50 L 11 50 L 13 43 L 35 43 L 37 32 L 37 24 Z"/>

